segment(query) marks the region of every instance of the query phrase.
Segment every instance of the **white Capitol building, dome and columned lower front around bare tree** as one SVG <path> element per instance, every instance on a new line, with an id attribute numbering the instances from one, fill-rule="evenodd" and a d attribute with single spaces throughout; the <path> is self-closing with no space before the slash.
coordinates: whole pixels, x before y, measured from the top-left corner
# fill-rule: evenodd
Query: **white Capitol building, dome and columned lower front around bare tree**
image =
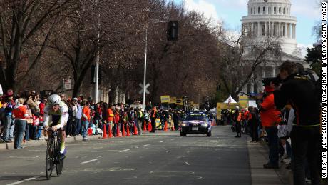
<path id="1" fill-rule="evenodd" d="M 250 0 L 248 14 L 242 17 L 242 31 L 251 33 L 257 41 L 267 41 L 267 37 L 274 37 L 280 42 L 282 56 L 280 61 L 268 59 L 255 71 L 255 78 L 244 87 L 243 92 L 257 93 L 262 91 L 262 79 L 277 76 L 278 67 L 289 60 L 300 62 L 304 67 L 309 64 L 297 49 L 296 28 L 297 18 L 290 14 L 292 4 L 289 0 Z"/>

